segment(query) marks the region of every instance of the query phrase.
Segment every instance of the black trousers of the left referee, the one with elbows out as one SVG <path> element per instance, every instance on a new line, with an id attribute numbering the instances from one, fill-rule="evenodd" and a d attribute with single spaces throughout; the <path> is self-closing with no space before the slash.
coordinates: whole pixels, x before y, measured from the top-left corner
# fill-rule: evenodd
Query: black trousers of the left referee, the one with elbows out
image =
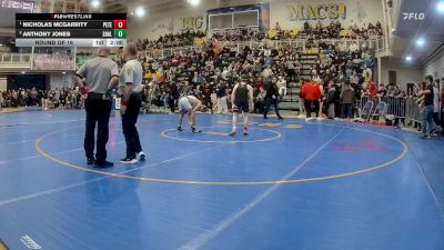
<path id="1" fill-rule="evenodd" d="M 87 129 L 84 134 L 84 152 L 87 158 L 94 158 L 94 143 L 97 144 L 95 159 L 98 162 L 107 160 L 107 142 L 109 136 L 108 122 L 111 114 L 111 101 L 101 99 L 102 94 L 89 93 L 84 102 L 87 110 Z M 95 124 L 98 124 L 97 141 L 94 140 Z"/>

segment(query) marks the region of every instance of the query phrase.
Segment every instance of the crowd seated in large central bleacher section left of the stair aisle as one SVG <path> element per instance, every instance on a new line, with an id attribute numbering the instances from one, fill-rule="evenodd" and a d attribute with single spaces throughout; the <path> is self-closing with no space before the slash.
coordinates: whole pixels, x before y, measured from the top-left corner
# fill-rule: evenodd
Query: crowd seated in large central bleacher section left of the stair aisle
<path id="1" fill-rule="evenodd" d="M 268 90 L 274 86 L 285 88 L 289 80 L 296 80 L 301 68 L 299 58 L 300 53 L 292 49 L 263 44 L 245 47 L 238 52 L 226 44 L 219 53 L 206 47 L 202 52 L 180 51 L 162 60 L 147 59 L 143 63 L 149 83 L 147 99 L 171 108 L 181 94 L 192 92 L 204 100 L 210 111 L 219 107 L 218 113 L 226 113 L 221 100 L 228 98 L 241 74 L 248 74 L 254 88 L 255 110 L 263 111 L 270 101 L 280 98 L 278 94 L 266 97 Z"/>

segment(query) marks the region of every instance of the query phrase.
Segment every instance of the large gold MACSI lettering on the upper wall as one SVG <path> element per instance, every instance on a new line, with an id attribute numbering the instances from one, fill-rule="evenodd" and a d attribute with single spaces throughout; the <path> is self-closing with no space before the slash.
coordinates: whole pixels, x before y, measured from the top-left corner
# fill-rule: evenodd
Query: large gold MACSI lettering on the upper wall
<path id="1" fill-rule="evenodd" d="M 319 4 L 300 3 L 287 6 L 286 10 L 290 21 L 346 19 L 346 4 L 340 2 Z"/>

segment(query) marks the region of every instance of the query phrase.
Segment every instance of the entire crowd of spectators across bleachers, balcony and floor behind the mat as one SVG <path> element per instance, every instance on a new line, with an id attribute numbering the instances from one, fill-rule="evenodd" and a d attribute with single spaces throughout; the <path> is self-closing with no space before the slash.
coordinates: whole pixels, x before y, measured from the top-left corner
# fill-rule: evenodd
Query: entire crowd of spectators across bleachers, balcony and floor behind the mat
<path id="1" fill-rule="evenodd" d="M 273 39 L 292 39 L 295 34 L 304 36 L 306 47 L 317 48 L 319 57 L 313 63 L 305 62 L 303 66 L 301 50 L 291 46 L 276 48 L 271 42 Z M 279 111 L 278 103 L 286 94 L 287 82 L 301 81 L 300 110 L 309 120 L 312 112 L 317 117 L 324 113 L 330 119 L 356 119 L 364 97 L 377 103 L 386 100 L 384 98 L 416 97 L 424 89 L 424 83 L 408 90 L 393 82 L 377 84 L 373 80 L 374 48 L 365 42 L 344 39 L 373 39 L 380 36 L 380 22 L 344 29 L 339 21 L 332 21 L 327 26 L 305 22 L 299 32 L 282 30 L 276 23 L 274 32 L 269 33 L 254 28 L 239 28 L 215 31 L 210 40 L 204 39 L 205 33 L 201 31 L 167 34 L 155 41 L 139 40 L 139 59 L 144 68 L 144 103 L 147 108 L 154 104 L 174 112 L 181 96 L 194 94 L 203 101 L 204 111 L 228 113 L 232 88 L 240 76 L 246 74 L 254 89 L 254 112 L 264 117 L 271 106 L 275 104 Z M 203 41 L 199 49 L 178 49 L 164 58 L 145 58 L 143 53 L 147 49 L 193 46 L 196 39 Z M 256 41 L 252 48 L 244 46 L 240 50 L 236 41 L 251 40 Z M 54 54 L 56 58 L 59 56 Z M 118 53 L 118 63 L 119 58 Z M 1 107 L 64 109 L 81 108 L 82 102 L 83 98 L 75 89 L 19 89 L 0 94 Z M 420 127 L 420 122 L 416 123 Z"/>

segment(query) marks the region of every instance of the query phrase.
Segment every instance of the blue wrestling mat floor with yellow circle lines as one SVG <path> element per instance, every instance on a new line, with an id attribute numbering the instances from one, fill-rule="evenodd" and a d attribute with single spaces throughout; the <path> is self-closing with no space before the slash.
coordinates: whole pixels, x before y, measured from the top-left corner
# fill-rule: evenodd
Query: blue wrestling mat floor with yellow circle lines
<path id="1" fill-rule="evenodd" d="M 0 239 L 11 250 L 443 250 L 444 140 L 337 121 L 139 119 L 145 162 L 93 169 L 83 111 L 0 116 Z M 186 121 L 186 120 L 185 120 Z M 125 151 L 120 119 L 108 144 Z M 1 249 L 1 243 L 0 243 Z"/>

